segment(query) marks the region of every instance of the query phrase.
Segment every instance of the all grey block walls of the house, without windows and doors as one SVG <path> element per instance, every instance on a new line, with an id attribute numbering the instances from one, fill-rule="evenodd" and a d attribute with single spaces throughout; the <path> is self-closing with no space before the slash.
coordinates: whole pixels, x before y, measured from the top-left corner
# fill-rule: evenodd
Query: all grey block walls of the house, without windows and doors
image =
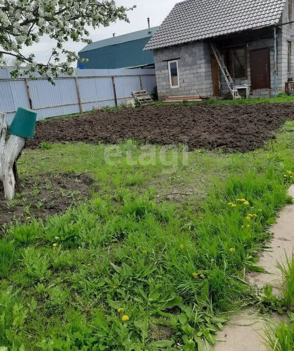
<path id="1" fill-rule="evenodd" d="M 293 0 L 294 3 L 294 0 Z M 292 6 L 294 20 L 294 4 Z M 282 22 L 288 21 L 287 5 L 283 11 Z M 275 60 L 274 60 L 274 29 L 273 37 L 269 39 L 253 40 L 248 42 L 248 78 L 236 79 L 236 85 L 251 84 L 251 69 L 250 69 L 250 51 L 253 49 L 264 48 L 269 46 L 270 66 L 271 66 L 271 89 L 254 90 L 253 95 L 269 96 L 274 94 L 275 82 Z M 291 26 L 287 24 L 282 26 L 282 29 L 277 28 L 277 51 L 278 51 L 278 74 L 277 74 L 277 90 L 285 91 L 285 82 L 290 77 L 294 78 L 294 58 L 291 61 L 291 73 L 288 74 L 288 46 L 287 41 L 292 43 L 292 53 L 294 51 L 294 23 Z M 180 87 L 170 88 L 168 77 L 168 60 L 178 60 L 179 65 L 179 82 Z M 209 42 L 198 41 L 190 44 L 173 46 L 154 51 L 157 89 L 159 99 L 164 99 L 167 96 L 179 95 L 201 95 L 212 96 L 212 72 L 211 72 L 211 51 Z M 219 72 L 221 94 L 228 94 L 229 89 L 221 72 Z"/>

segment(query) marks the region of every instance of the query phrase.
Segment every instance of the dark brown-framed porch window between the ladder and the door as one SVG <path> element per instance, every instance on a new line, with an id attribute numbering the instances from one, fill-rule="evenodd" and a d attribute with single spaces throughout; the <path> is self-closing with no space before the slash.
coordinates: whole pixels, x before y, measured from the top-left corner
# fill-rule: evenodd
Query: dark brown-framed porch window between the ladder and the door
<path id="1" fill-rule="evenodd" d="M 247 78 L 247 47 L 229 49 L 226 54 L 226 64 L 233 78 Z"/>

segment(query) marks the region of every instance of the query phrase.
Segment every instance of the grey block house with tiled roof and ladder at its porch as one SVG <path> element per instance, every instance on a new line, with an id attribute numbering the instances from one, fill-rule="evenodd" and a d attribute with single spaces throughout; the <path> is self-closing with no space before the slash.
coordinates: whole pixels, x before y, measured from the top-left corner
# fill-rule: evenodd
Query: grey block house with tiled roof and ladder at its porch
<path id="1" fill-rule="evenodd" d="M 160 99 L 285 91 L 294 75 L 294 0 L 186 0 L 144 50 L 153 51 Z M 294 85 L 294 84 L 292 84 Z"/>

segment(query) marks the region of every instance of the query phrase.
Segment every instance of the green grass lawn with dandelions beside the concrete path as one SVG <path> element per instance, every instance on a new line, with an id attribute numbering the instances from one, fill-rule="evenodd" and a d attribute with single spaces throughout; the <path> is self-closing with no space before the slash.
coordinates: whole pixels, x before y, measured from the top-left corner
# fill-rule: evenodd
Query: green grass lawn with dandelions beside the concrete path
<path id="1" fill-rule="evenodd" d="M 256 255 L 270 239 L 266 228 L 289 202 L 293 131 L 287 122 L 276 140 L 244 154 L 133 140 L 24 152 L 22 177 L 88 173 L 97 189 L 64 214 L 3 228 L 0 346 L 201 351 L 213 344 L 228 312 L 260 298 L 244 272 L 262 270 Z"/>

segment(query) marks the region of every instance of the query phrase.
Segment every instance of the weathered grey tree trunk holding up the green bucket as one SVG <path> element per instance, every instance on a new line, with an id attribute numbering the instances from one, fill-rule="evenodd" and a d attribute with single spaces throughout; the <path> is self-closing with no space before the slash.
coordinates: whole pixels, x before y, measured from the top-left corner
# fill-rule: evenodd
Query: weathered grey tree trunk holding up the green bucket
<path id="1" fill-rule="evenodd" d="M 4 197 L 12 199 L 16 191 L 20 191 L 21 185 L 17 174 L 16 161 L 21 150 L 26 145 L 26 139 L 17 135 L 11 135 L 6 140 L 7 121 L 5 114 L 0 114 L 0 191 Z"/>

